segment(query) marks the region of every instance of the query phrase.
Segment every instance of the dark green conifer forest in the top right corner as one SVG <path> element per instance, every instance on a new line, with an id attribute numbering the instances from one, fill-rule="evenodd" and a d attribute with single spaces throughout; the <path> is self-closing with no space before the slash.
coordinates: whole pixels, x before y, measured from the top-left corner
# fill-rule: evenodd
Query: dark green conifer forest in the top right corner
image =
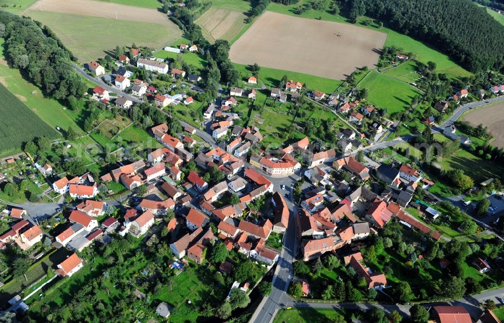
<path id="1" fill-rule="evenodd" d="M 504 70 L 504 26 L 471 0 L 342 0 L 350 18 L 388 21 L 405 35 L 431 43 L 472 72 Z"/>

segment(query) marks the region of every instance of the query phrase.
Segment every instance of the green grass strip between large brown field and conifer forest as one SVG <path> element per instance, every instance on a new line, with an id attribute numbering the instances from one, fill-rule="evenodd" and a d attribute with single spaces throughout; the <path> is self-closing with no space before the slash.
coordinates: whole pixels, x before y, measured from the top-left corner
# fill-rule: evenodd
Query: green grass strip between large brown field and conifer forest
<path id="1" fill-rule="evenodd" d="M 267 10 L 295 17 L 350 23 L 349 20 L 347 20 L 346 18 L 340 15 L 334 15 L 329 8 L 321 11 L 307 10 L 301 15 L 295 14 L 295 8 L 299 6 L 308 6 L 309 4 L 310 1 L 308 0 L 301 0 L 298 3 L 290 6 L 284 6 L 272 2 L 268 6 Z M 369 18 L 363 17 L 360 19 L 360 21 L 366 19 Z M 387 27 L 379 28 L 377 23 L 373 23 L 370 26 L 360 24 L 360 26 L 363 28 L 369 28 L 387 33 L 387 40 L 385 41 L 385 46 L 396 46 L 399 48 L 403 48 L 404 52 L 410 52 L 410 51 L 414 52 L 416 54 L 416 59 L 424 64 L 427 64 L 427 62 L 429 61 L 435 62 L 437 64 L 436 71 L 438 73 L 446 73 L 450 78 L 459 78 L 472 75 L 470 72 L 466 71 L 465 69 L 457 65 L 447 55 L 437 51 L 435 48 L 426 43 L 415 40 L 409 36 L 403 35 Z"/>

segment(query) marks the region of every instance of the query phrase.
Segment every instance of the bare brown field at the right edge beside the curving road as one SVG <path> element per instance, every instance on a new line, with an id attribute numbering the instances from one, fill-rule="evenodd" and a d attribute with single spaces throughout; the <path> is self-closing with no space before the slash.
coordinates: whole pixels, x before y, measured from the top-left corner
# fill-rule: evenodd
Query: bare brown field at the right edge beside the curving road
<path id="1" fill-rule="evenodd" d="M 488 132 L 495 138 L 491 144 L 504 147 L 504 102 L 471 111 L 464 116 L 464 121 L 473 126 L 482 124 L 488 127 Z"/>

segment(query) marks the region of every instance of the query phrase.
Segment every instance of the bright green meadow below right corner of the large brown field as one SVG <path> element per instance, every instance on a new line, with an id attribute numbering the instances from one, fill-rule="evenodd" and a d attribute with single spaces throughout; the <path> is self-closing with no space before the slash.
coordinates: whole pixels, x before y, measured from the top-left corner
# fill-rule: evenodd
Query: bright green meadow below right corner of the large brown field
<path id="1" fill-rule="evenodd" d="M 369 90 L 369 103 L 384 107 L 390 115 L 405 111 L 413 98 L 421 95 L 413 86 L 374 71 L 364 78 L 359 87 Z"/>

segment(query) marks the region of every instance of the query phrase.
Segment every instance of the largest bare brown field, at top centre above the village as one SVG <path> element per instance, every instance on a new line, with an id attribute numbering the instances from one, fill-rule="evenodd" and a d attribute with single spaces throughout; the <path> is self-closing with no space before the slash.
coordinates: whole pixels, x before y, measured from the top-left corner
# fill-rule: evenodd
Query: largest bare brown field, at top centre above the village
<path id="1" fill-rule="evenodd" d="M 349 24 L 267 11 L 233 43 L 229 58 L 341 80 L 356 68 L 374 67 L 386 37 Z"/>

